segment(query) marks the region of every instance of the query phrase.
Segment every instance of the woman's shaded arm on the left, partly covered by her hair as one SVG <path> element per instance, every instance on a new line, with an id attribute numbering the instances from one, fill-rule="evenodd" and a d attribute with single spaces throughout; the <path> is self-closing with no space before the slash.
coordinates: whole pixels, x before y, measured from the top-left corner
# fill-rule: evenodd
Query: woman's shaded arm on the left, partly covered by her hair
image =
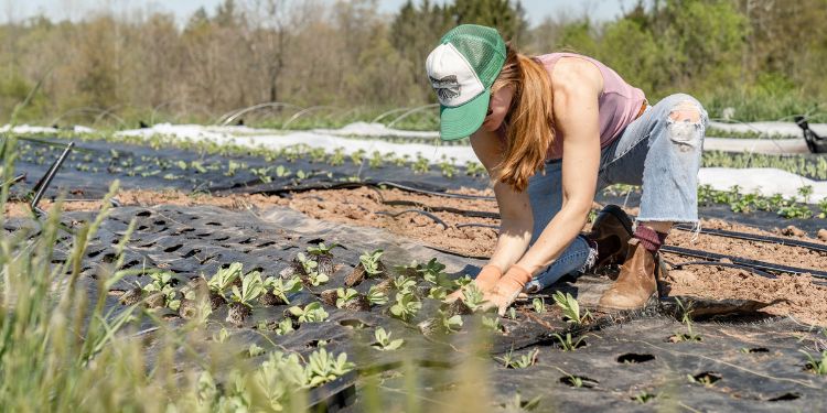
<path id="1" fill-rule="evenodd" d="M 484 128 L 480 128 L 471 135 L 471 146 L 492 177 L 497 176 L 496 166 L 502 161 L 500 144 L 500 138 Z M 505 272 L 523 257 L 528 248 L 534 219 L 527 192 L 515 192 L 508 185 L 497 181 L 494 184 L 494 194 L 500 207 L 501 224 L 500 237 L 488 264 Z"/>

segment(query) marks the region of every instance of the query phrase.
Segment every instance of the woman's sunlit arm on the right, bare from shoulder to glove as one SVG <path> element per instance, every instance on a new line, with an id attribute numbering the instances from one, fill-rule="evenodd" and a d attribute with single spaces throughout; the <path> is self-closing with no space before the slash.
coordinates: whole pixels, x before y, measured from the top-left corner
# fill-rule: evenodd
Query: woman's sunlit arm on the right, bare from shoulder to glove
<path id="1" fill-rule="evenodd" d="M 562 207 L 517 262 L 529 274 L 545 269 L 586 225 L 600 164 L 598 98 L 603 77 L 590 62 L 560 59 L 551 75 L 554 115 L 562 141 Z"/>

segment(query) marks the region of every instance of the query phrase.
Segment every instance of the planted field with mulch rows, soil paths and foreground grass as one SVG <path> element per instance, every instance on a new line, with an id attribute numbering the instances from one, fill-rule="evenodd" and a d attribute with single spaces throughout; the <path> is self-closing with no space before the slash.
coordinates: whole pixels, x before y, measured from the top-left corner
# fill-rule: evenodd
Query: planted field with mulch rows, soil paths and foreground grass
<path id="1" fill-rule="evenodd" d="M 222 131 L 7 133 L 0 357 L 7 378 L 28 378 L 0 385 L 8 409 L 827 409 L 818 186 L 701 186 L 701 230 L 669 236 L 643 311 L 595 309 L 610 269 L 498 317 L 473 290 L 468 305 L 441 301 L 476 274 L 500 222 L 468 148 Z M 278 143 L 291 139 L 304 143 Z M 69 140 L 33 213 L 30 191 Z M 430 151 L 383 150 L 406 144 Z M 818 156 L 704 162 L 827 176 Z M 602 188 L 594 210 L 634 215 L 640 194 Z"/>

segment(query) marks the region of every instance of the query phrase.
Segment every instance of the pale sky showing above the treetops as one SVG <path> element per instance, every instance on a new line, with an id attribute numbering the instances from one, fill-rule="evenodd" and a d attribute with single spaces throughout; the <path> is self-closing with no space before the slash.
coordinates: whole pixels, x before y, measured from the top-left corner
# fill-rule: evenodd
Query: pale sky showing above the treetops
<path id="1" fill-rule="evenodd" d="M 198 8 L 213 12 L 223 0 L 0 0 L 2 20 L 23 20 L 36 14 L 45 14 L 53 20 L 80 19 L 86 12 L 98 8 L 116 11 L 144 9 L 175 13 L 181 22 Z M 323 0 L 333 2 L 334 0 Z M 406 0 L 379 0 L 379 9 L 394 13 Z M 636 0 L 523 0 L 523 7 L 531 24 L 537 24 L 547 15 L 569 13 L 580 15 L 588 12 L 593 20 L 611 20 L 630 9 Z"/>

